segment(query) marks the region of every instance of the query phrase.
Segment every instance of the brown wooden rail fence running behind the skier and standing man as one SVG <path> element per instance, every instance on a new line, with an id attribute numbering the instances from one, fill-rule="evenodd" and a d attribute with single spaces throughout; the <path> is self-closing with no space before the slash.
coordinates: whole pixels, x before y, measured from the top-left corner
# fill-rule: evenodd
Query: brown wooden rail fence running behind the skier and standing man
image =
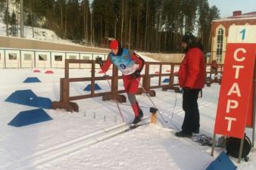
<path id="1" fill-rule="evenodd" d="M 82 77 L 82 78 L 70 78 L 70 63 L 87 63 L 91 64 L 92 66 L 92 73 L 89 77 Z M 54 101 L 52 103 L 52 109 L 65 109 L 67 111 L 79 111 L 79 107 L 76 103 L 70 102 L 71 100 L 80 100 L 89 97 L 100 97 L 102 96 L 102 100 L 117 100 L 117 102 L 123 103 L 126 102 L 126 97 L 122 94 L 124 90 L 118 90 L 118 79 L 122 79 L 122 76 L 118 76 L 118 70 L 115 66 L 113 66 L 112 76 L 101 76 L 95 77 L 95 60 L 72 60 L 66 59 L 65 60 L 65 76 L 60 80 L 60 101 Z M 151 73 L 151 66 L 159 66 L 159 73 Z M 163 66 L 169 67 L 169 73 L 163 73 Z M 179 91 L 178 83 L 174 83 L 174 69 L 176 66 L 180 66 L 180 63 L 159 63 L 159 62 L 145 62 L 145 73 L 142 74 L 142 87 L 139 88 L 138 94 L 142 94 L 143 92 L 148 93 L 151 97 L 156 95 L 155 91 L 152 90 L 153 88 L 162 88 L 163 91 L 167 91 L 168 89 L 175 90 L 176 92 Z M 211 65 L 206 66 L 207 73 L 212 74 L 211 68 L 209 70 L 208 67 Z M 154 68 L 155 68 L 154 67 Z M 223 65 L 219 65 L 217 73 L 222 73 Z M 165 71 L 166 72 L 166 71 Z M 215 72 L 216 74 L 216 72 Z M 158 85 L 151 85 L 151 78 L 158 77 Z M 163 84 L 162 78 L 169 77 L 169 82 L 167 84 Z M 211 76 L 210 76 L 211 77 Z M 95 81 L 98 80 L 105 80 L 111 81 L 111 91 L 95 93 Z M 207 79 L 208 81 L 206 84 L 210 84 L 213 82 L 217 82 L 217 79 L 212 80 Z M 80 96 L 72 96 L 70 97 L 70 82 L 91 82 L 91 91 L 90 94 L 84 94 Z"/>

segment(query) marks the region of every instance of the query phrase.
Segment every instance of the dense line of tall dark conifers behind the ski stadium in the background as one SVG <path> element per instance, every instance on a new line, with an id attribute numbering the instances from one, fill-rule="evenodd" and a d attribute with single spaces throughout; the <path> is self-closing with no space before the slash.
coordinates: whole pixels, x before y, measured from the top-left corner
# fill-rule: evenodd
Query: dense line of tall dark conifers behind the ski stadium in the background
<path id="1" fill-rule="evenodd" d="M 7 10 L 8 1 L 0 0 L 0 10 L 17 30 L 20 0 L 13 0 L 17 11 Z M 107 47 L 108 38 L 116 38 L 123 47 L 152 52 L 180 51 L 189 32 L 209 51 L 211 21 L 220 17 L 208 0 L 23 0 L 23 6 L 25 25 L 52 29 L 63 39 Z"/>

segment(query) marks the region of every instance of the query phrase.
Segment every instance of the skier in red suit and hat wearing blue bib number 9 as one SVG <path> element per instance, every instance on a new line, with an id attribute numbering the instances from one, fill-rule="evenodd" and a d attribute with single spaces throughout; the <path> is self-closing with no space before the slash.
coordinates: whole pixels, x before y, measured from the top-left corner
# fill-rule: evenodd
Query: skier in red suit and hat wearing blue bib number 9
<path id="1" fill-rule="evenodd" d="M 117 66 L 117 69 L 121 71 L 123 74 L 123 86 L 135 115 L 133 124 L 137 124 L 141 121 L 143 113 L 135 95 L 139 88 L 140 73 L 145 61 L 135 52 L 130 53 L 128 49 L 122 48 L 116 39 L 110 42 L 109 48 L 111 52 L 108 54 L 105 63 L 103 63 L 101 57 L 96 57 L 96 63 L 101 66 L 101 70 L 104 72 L 108 71 L 111 63 Z"/>

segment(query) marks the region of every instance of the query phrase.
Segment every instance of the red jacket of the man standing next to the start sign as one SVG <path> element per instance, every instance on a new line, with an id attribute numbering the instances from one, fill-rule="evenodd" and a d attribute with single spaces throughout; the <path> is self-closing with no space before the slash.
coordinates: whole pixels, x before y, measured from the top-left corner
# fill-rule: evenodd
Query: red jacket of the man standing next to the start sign
<path id="1" fill-rule="evenodd" d="M 199 48 L 190 48 L 180 65 L 179 84 L 181 88 L 199 89 L 205 83 L 204 54 Z"/>

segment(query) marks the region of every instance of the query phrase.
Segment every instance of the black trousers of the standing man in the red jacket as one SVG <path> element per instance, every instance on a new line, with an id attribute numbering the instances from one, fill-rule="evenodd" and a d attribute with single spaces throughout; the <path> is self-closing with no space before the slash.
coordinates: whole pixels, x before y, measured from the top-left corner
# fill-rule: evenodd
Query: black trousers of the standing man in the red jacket
<path id="1" fill-rule="evenodd" d="M 201 89 L 183 89 L 183 110 L 185 117 L 182 129 L 187 133 L 195 132 L 200 127 L 198 94 Z"/>

